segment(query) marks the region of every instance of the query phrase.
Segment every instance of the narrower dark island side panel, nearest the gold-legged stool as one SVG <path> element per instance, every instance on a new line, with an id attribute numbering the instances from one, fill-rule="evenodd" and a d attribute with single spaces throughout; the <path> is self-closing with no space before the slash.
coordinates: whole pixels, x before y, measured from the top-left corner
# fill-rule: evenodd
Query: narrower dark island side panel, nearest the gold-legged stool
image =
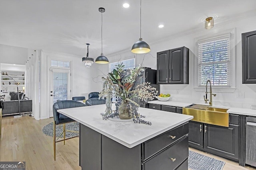
<path id="1" fill-rule="evenodd" d="M 82 170 L 101 170 L 101 134 L 80 123 L 79 146 Z"/>

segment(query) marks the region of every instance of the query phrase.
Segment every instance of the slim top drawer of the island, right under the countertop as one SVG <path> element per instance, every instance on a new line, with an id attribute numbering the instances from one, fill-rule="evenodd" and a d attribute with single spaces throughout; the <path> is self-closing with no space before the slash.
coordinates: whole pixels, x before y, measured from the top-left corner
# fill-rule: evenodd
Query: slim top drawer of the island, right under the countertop
<path id="1" fill-rule="evenodd" d="M 160 152 L 184 135 L 188 134 L 188 123 L 171 129 L 164 134 L 154 137 L 143 143 L 143 160 Z"/>

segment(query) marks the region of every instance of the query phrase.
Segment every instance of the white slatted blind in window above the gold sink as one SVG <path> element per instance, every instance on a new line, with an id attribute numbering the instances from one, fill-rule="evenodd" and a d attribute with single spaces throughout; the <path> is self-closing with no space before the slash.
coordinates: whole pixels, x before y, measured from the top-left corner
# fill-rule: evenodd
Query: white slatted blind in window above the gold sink
<path id="1" fill-rule="evenodd" d="M 198 85 L 230 87 L 230 34 L 198 41 Z"/>

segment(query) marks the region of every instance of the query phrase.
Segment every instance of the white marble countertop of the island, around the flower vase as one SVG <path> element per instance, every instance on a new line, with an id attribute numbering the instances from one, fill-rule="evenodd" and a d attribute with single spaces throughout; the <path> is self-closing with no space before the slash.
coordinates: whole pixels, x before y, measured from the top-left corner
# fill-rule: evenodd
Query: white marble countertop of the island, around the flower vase
<path id="1" fill-rule="evenodd" d="M 115 109 L 115 104 L 112 107 Z M 100 113 L 103 113 L 105 109 L 105 105 L 94 105 L 59 109 L 58 112 L 128 148 L 135 147 L 193 119 L 193 116 L 190 115 L 139 107 L 138 113 L 145 115 L 144 120 L 150 121 L 152 125 L 134 123 L 133 121 L 116 122 L 102 119 Z"/>

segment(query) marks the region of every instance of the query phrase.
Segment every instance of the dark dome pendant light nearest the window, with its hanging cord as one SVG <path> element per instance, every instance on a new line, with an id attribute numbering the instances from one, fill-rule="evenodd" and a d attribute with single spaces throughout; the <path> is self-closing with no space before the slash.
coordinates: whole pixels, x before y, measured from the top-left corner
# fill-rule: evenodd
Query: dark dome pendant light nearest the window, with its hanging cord
<path id="1" fill-rule="evenodd" d="M 141 0 L 140 0 L 140 39 L 132 46 L 132 53 L 143 54 L 150 52 L 149 45 L 141 38 Z"/>

